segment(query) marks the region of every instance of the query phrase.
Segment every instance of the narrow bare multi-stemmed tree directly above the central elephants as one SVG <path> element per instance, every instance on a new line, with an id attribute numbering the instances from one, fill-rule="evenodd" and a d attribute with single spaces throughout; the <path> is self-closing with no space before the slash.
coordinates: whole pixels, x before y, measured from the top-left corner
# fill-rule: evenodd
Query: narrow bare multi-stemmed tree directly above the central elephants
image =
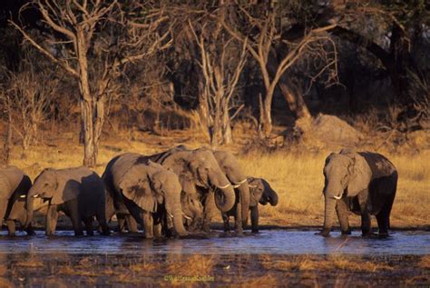
<path id="1" fill-rule="evenodd" d="M 243 107 L 234 104 L 233 96 L 247 56 L 247 41 L 238 43 L 222 28 L 220 22 L 226 13 L 223 1 L 220 3 L 220 8 L 213 13 L 215 21 L 205 17 L 208 21 L 200 23 L 198 29 L 189 22 L 200 51 L 200 118 L 209 132 L 212 146 L 233 141 L 231 120 Z M 230 113 L 232 109 L 236 110 L 235 114 Z"/>

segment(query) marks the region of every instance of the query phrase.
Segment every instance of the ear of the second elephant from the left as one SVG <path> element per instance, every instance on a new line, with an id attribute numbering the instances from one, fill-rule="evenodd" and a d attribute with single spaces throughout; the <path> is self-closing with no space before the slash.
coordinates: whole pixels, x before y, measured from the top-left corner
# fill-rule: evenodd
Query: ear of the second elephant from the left
<path id="1" fill-rule="evenodd" d="M 54 193 L 51 204 L 63 204 L 66 201 L 77 198 L 81 183 L 57 171 L 51 171 L 54 181 Z"/>

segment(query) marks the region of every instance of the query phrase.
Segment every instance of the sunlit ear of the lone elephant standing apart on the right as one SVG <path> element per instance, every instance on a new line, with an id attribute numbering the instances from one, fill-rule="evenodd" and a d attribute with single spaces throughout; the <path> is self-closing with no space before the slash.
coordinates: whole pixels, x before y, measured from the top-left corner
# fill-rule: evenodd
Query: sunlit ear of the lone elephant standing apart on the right
<path id="1" fill-rule="evenodd" d="M 372 179 L 372 171 L 366 162 L 366 159 L 350 149 L 343 149 L 340 154 L 346 155 L 350 160 L 347 167 L 349 181 L 347 184 L 347 195 L 355 196 L 365 190 Z"/>

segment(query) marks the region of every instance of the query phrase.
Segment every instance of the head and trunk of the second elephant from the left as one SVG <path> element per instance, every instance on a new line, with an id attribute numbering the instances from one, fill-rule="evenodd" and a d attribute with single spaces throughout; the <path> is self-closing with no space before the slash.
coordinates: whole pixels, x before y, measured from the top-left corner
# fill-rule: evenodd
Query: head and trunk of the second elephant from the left
<path id="1" fill-rule="evenodd" d="M 59 173 L 55 169 L 47 168 L 34 180 L 33 186 L 27 194 L 27 219 L 25 226 L 33 221 L 34 198 L 42 198 L 50 204 L 63 204 L 76 198 L 79 194 L 80 184 Z"/>

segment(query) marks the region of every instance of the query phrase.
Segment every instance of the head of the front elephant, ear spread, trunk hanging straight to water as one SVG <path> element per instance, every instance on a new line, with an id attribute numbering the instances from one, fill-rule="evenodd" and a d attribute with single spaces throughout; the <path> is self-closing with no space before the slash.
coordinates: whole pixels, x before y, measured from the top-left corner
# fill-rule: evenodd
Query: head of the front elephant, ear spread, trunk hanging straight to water
<path id="1" fill-rule="evenodd" d="M 158 205 L 164 205 L 176 232 L 187 234 L 182 223 L 181 183 L 171 170 L 152 162 L 134 164 L 122 175 L 117 185 L 116 188 L 124 197 L 144 211 L 155 213 Z"/>

